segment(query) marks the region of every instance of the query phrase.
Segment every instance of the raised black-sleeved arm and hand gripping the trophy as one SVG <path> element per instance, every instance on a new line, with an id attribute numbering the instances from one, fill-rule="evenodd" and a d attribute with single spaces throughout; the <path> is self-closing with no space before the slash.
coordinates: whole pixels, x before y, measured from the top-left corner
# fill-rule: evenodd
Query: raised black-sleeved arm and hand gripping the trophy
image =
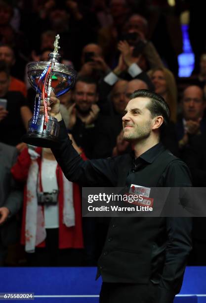
<path id="1" fill-rule="evenodd" d="M 55 117 L 60 124 L 59 143 L 51 150 L 66 178 L 87 187 L 116 186 L 115 160 L 98 159 L 84 161 L 73 148 L 72 141 L 68 137 L 59 110 L 59 99 L 52 93 L 50 100 L 52 103 L 48 102 L 49 115 Z M 41 113 L 43 113 L 43 106 L 41 106 Z"/>

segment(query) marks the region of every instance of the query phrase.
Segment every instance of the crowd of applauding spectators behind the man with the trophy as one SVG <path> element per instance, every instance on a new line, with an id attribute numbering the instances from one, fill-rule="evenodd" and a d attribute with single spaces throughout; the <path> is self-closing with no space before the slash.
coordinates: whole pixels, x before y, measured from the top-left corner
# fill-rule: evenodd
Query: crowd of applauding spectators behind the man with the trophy
<path id="1" fill-rule="evenodd" d="M 171 2 L 0 0 L 0 266 L 96 265 L 107 233 L 109 218 L 82 218 L 81 188 L 65 179 L 51 151 L 22 142 L 36 95 L 27 66 L 48 60 L 57 34 L 61 63 L 78 72 L 60 101 L 82 158 L 130 152 L 124 109 L 135 90 L 148 89 L 170 107 L 162 142 L 187 163 L 193 185 L 206 187 L 206 37 L 196 35 L 203 1 Z M 180 79 L 185 10 L 195 68 Z M 55 203 L 43 203 L 42 192 Z M 193 247 L 189 264 L 206 265 L 204 217 L 194 218 Z"/>

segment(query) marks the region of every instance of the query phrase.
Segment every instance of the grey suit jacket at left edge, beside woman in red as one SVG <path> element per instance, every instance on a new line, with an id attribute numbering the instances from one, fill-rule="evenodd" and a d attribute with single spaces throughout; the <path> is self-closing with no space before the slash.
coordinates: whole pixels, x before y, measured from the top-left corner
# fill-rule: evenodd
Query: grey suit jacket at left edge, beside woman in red
<path id="1" fill-rule="evenodd" d="M 10 172 L 17 155 L 16 148 L 0 143 L 0 207 L 5 206 L 10 210 L 8 219 L 0 226 L 0 237 L 5 246 L 17 240 L 17 224 L 14 215 L 21 208 L 23 201 L 23 192 Z"/>

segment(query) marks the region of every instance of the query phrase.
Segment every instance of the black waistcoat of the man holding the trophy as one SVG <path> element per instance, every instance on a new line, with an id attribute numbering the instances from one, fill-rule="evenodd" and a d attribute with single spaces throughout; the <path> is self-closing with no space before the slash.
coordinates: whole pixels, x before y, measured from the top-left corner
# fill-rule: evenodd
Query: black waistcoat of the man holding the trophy
<path id="1" fill-rule="evenodd" d="M 118 167 L 119 187 L 125 186 L 132 168 L 131 156 L 127 154 L 123 159 Z M 169 151 L 163 151 L 152 163 L 135 172 L 134 184 L 163 187 L 159 180 L 175 159 Z M 158 283 L 165 258 L 165 220 L 161 217 L 112 218 L 96 278 L 102 275 L 104 282 L 112 283 L 148 283 L 150 279 Z M 153 255 L 154 248 L 158 255 Z"/>

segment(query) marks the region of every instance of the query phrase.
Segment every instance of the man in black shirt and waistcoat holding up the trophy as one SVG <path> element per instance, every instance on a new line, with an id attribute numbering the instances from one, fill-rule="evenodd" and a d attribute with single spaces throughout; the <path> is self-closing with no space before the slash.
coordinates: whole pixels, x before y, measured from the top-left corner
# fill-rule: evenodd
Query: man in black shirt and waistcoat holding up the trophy
<path id="1" fill-rule="evenodd" d="M 51 147 L 66 178 L 81 186 L 130 187 L 131 183 L 143 187 L 191 186 L 185 163 L 160 143 L 160 128 L 169 120 L 168 105 L 162 97 L 147 90 L 133 93 L 123 117 L 124 139 L 132 143 L 133 154 L 83 161 L 69 140 L 60 113 L 60 101 L 55 96 L 59 83 L 69 83 L 68 78 L 65 81 L 61 78 L 59 82 L 60 75 L 55 75 L 59 83 L 56 87 L 51 85 L 49 91 L 52 71 L 59 64 L 52 63 L 56 57 L 51 55 L 50 68 L 38 72 L 38 77 L 35 78 L 37 73 L 32 72 L 37 92 L 41 79 L 44 79 L 44 91 L 43 100 L 37 102 L 39 111 L 34 113 L 33 124 L 29 126 L 30 144 Z M 65 74 L 63 72 L 63 76 Z M 69 76 L 70 82 L 74 81 L 71 71 Z M 40 113 L 39 117 L 37 113 Z M 50 120 L 52 123 L 49 124 Z M 111 218 L 98 261 L 96 278 L 101 275 L 103 280 L 100 303 L 172 303 L 181 289 L 190 251 L 191 218 Z"/>

